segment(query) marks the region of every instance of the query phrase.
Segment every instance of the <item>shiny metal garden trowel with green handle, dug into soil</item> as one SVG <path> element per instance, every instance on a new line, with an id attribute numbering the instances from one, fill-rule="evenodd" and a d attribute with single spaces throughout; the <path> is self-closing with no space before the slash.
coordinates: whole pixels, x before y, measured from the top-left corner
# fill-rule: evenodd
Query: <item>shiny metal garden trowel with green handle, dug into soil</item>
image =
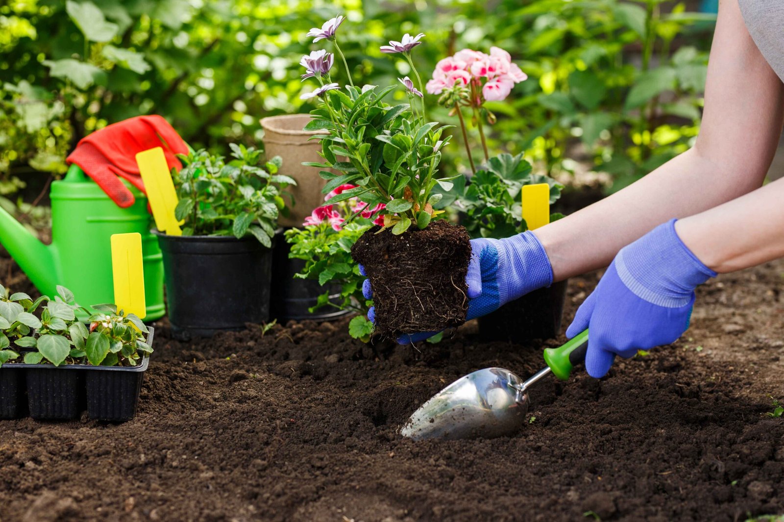
<path id="1" fill-rule="evenodd" d="M 546 367 L 528 380 L 503 368 L 485 368 L 460 377 L 426 401 L 401 430 L 415 441 L 514 435 L 526 423 L 528 388 L 548 373 L 567 380 L 585 360 L 588 330 L 561 347 L 544 351 Z"/>

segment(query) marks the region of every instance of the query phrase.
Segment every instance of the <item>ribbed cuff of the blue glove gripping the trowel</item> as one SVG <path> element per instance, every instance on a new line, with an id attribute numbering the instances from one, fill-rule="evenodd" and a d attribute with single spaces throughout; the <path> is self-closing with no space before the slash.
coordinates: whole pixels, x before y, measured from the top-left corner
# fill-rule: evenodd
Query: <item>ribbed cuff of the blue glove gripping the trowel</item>
<path id="1" fill-rule="evenodd" d="M 666 308 L 681 308 L 695 288 L 716 272 L 684 245 L 672 219 L 659 225 L 615 256 L 615 269 L 637 297 Z"/>

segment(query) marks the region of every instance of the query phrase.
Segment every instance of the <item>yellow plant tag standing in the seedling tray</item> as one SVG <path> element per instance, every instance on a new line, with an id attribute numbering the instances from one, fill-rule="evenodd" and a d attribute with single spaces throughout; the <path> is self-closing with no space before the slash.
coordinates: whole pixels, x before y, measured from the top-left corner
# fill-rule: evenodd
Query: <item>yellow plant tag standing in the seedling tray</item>
<path id="1" fill-rule="evenodd" d="M 147 315 L 144 302 L 142 236 L 138 232 L 111 236 L 111 271 L 114 275 L 114 304 L 125 315 Z"/>

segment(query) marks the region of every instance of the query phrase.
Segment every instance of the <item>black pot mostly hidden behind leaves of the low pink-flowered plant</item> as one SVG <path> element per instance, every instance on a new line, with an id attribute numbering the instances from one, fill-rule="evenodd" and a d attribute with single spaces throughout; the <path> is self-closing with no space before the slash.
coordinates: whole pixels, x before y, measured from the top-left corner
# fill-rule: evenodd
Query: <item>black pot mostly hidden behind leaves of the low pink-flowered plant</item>
<path id="1" fill-rule="evenodd" d="M 352 313 L 350 310 L 339 310 L 331 306 L 310 312 L 308 309 L 318 302 L 318 296 L 329 290 L 329 300 L 340 301 L 340 286 L 321 286 L 314 279 L 295 278 L 294 275 L 305 268 L 302 259 L 289 258 L 291 245 L 286 243 L 285 236 L 280 232 L 275 235 L 272 254 L 272 286 L 270 287 L 270 317 L 278 322 L 289 320 L 332 321 Z"/>

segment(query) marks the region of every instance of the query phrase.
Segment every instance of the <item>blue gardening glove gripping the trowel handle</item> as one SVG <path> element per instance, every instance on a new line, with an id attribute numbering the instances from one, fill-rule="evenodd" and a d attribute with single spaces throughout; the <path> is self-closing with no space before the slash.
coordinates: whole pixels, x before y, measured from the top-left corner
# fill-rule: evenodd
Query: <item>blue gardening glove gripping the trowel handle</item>
<path id="1" fill-rule="evenodd" d="M 577 310 L 570 339 L 590 328 L 586 370 L 608 372 L 615 355 L 670 344 L 688 329 L 695 288 L 716 276 L 684 245 L 675 221 L 623 247 Z"/>

